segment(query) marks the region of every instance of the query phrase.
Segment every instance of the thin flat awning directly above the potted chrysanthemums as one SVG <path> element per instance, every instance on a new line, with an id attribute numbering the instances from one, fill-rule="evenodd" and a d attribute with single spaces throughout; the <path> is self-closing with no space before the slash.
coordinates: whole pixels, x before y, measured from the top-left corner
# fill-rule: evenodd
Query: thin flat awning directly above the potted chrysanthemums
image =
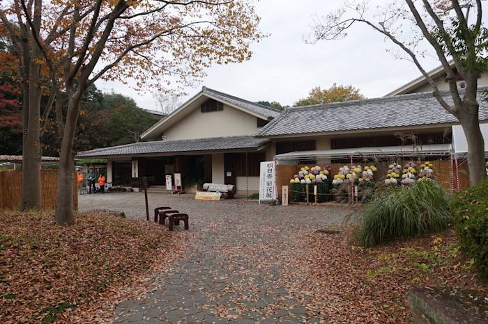
<path id="1" fill-rule="evenodd" d="M 386 147 L 360 147 L 354 149 L 326 149 L 323 151 L 302 151 L 279 154 L 276 161 L 300 161 L 321 158 L 347 159 L 349 157 L 374 156 L 443 156 L 452 152 L 450 144 L 404 145 Z"/>

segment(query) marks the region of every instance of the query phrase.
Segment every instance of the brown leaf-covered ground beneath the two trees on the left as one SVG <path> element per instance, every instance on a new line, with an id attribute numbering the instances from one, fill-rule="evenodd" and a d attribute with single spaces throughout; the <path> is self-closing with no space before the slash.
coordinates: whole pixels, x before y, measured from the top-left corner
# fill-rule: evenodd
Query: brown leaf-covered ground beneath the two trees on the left
<path id="1" fill-rule="evenodd" d="M 1 323 L 90 323 L 181 251 L 165 227 L 102 212 L 71 227 L 47 212 L 0 213 L 0 229 Z"/>

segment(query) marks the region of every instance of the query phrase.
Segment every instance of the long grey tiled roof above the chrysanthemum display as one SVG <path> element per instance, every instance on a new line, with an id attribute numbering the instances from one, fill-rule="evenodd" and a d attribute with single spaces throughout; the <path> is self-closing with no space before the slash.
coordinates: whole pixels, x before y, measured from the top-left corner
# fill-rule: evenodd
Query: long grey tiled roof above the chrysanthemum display
<path id="1" fill-rule="evenodd" d="M 478 89 L 480 120 L 488 120 L 488 104 Z M 443 92 L 452 104 L 449 92 Z M 289 108 L 258 131 L 257 136 L 335 133 L 361 129 L 415 127 L 459 122 L 432 97 L 432 92 Z"/>

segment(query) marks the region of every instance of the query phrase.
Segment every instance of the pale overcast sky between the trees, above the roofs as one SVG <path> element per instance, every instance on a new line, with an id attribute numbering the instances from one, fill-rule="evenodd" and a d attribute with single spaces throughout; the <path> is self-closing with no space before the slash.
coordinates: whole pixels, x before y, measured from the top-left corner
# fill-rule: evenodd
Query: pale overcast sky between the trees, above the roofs
<path id="1" fill-rule="evenodd" d="M 328 13 L 334 5 L 327 3 L 332 2 L 342 1 L 259 1 L 256 10 L 261 16 L 261 30 L 270 36 L 252 46 L 251 60 L 209 68 L 208 76 L 197 87 L 188 88 L 188 96 L 181 101 L 207 86 L 254 102 L 291 105 L 312 87 L 328 88 L 333 83 L 351 84 L 372 98 L 386 95 L 420 75 L 413 63 L 387 53 L 386 49 L 394 49 L 394 45 L 365 26 L 351 30 L 344 40 L 305 44 L 312 18 Z M 437 65 L 434 59 L 425 60 L 429 70 Z M 151 93 L 136 92 L 120 83 L 98 83 L 98 88 L 129 95 L 142 108 L 158 107 Z"/>

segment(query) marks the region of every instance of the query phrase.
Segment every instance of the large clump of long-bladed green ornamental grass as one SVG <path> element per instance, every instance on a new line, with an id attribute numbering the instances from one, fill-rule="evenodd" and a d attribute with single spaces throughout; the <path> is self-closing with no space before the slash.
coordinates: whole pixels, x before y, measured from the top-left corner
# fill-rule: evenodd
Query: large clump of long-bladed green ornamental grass
<path id="1" fill-rule="evenodd" d="M 376 193 L 356 236 L 361 245 L 371 247 L 397 238 L 439 232 L 451 220 L 444 189 L 434 181 L 422 181 Z"/>

